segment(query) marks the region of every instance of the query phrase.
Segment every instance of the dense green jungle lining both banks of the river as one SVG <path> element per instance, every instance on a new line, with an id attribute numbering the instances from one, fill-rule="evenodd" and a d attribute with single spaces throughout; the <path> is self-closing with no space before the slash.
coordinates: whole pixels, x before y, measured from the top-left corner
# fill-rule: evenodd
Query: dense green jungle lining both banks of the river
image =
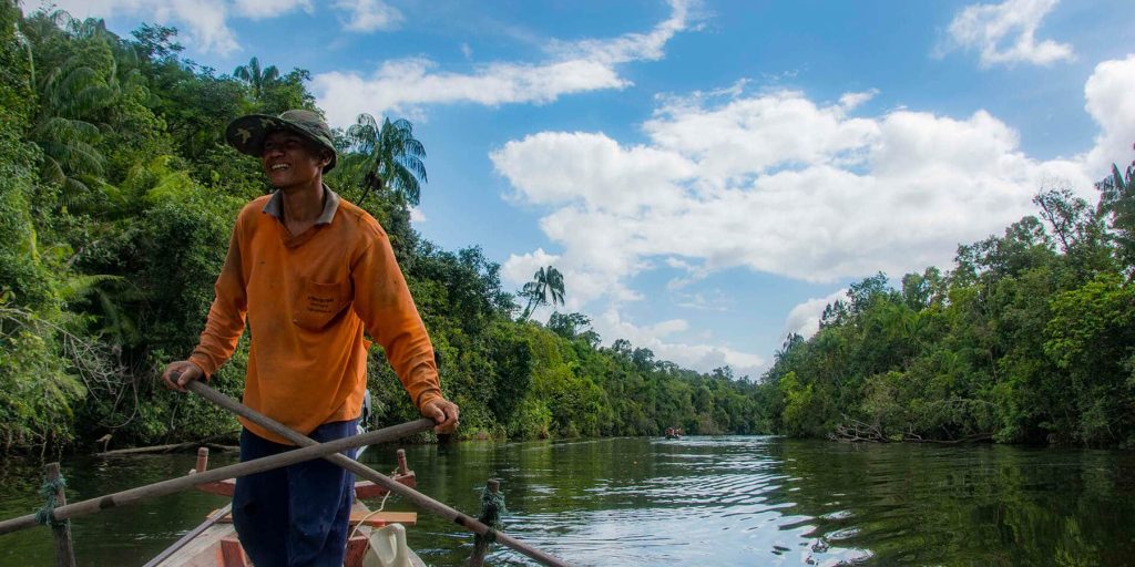
<path id="1" fill-rule="evenodd" d="M 232 74 L 180 57 L 177 32 L 131 37 L 0 0 L 0 443 L 3 451 L 201 440 L 236 421 L 157 376 L 196 344 L 236 213 L 269 191 L 224 142 L 250 112 L 319 111 L 304 69 Z M 337 132 L 328 184 L 386 228 L 438 352 L 463 438 L 782 433 L 847 440 L 1135 448 L 1135 184 L 1099 202 L 1039 187 L 1036 212 L 962 245 L 949 270 L 880 273 L 790 336 L 762 376 L 701 373 L 555 310 L 554 266 L 502 288 L 478 247 L 411 227 L 426 147 L 397 117 Z M 443 159 L 437 158 L 437 159 Z M 213 378 L 238 396 L 247 345 Z M 415 411 L 375 347 L 376 424 Z"/>

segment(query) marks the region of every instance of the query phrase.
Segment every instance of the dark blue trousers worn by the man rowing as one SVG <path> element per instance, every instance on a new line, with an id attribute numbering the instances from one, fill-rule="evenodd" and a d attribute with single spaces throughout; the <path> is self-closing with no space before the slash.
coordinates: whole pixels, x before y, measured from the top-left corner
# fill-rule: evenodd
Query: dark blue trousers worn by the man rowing
<path id="1" fill-rule="evenodd" d="M 325 423 L 308 437 L 319 442 L 350 437 L 356 422 Z M 241 431 L 242 462 L 293 449 Z M 354 475 L 317 458 L 237 479 L 233 524 L 257 567 L 340 567 L 353 501 Z"/>

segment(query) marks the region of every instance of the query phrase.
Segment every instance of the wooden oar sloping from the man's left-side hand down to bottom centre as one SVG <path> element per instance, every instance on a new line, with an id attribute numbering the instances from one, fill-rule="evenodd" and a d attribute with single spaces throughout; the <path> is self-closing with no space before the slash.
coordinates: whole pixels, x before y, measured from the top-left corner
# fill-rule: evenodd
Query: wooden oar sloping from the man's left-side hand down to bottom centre
<path id="1" fill-rule="evenodd" d="M 299 445 L 301 447 L 308 447 L 311 446 L 312 443 L 316 443 L 316 441 L 304 435 L 301 435 L 295 431 L 292 431 L 284 424 L 268 416 L 261 415 L 258 412 L 253 412 L 252 409 L 234 400 L 233 398 L 229 398 L 228 396 L 225 396 L 224 393 L 213 390 L 204 382 L 201 381 L 190 382 L 188 384 L 185 384 L 185 389 L 208 399 L 209 401 L 212 401 L 213 404 L 217 404 L 218 406 L 224 407 L 225 409 L 228 409 L 229 412 L 233 412 L 251 421 L 252 423 L 255 423 L 257 425 L 260 425 L 261 428 L 264 428 L 268 431 L 271 431 L 272 433 L 276 433 L 277 435 L 283 437 L 284 439 L 287 439 L 288 441 L 292 441 L 295 445 Z M 418 492 L 417 490 L 410 486 L 394 482 L 382 473 L 379 473 L 378 471 L 375 471 L 373 468 L 370 468 L 369 466 L 363 465 L 362 463 L 350 459 L 344 455 L 331 454 L 323 458 L 331 463 L 335 463 L 336 465 L 339 465 L 343 468 L 346 468 L 347 471 L 351 471 L 352 473 L 363 479 L 367 479 L 368 481 L 373 482 L 375 484 L 380 484 L 382 486 L 386 486 L 386 490 L 389 490 L 390 492 L 394 492 L 395 494 L 398 494 L 402 498 L 409 500 L 410 502 L 420 506 L 429 511 L 432 511 L 434 514 L 437 514 L 446 519 L 449 519 L 455 524 L 460 525 L 461 527 L 469 530 L 470 532 L 473 532 L 479 535 L 485 535 L 491 530 L 489 526 L 480 523 L 477 518 L 466 516 L 454 508 L 451 508 L 437 500 L 434 500 L 432 498 L 426 494 L 422 494 L 421 492 Z M 504 532 L 496 532 L 496 541 L 502 545 L 516 550 L 539 561 L 540 564 L 550 567 L 566 567 L 569 565 L 564 562 L 562 559 L 545 553 L 544 551 L 540 551 Z"/>

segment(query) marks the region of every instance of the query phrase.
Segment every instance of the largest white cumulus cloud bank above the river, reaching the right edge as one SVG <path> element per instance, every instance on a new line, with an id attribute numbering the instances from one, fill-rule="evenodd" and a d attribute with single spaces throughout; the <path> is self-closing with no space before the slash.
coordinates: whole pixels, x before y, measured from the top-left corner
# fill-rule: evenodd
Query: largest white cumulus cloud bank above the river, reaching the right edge
<path id="1" fill-rule="evenodd" d="M 706 274 L 731 268 L 825 282 L 948 266 L 959 243 L 1032 214 L 1045 184 L 1060 180 L 1094 200 L 1100 164 L 1130 160 L 1133 91 L 1135 56 L 1096 67 L 1085 99 L 1101 134 L 1094 149 L 1067 159 L 1027 155 L 1017 132 L 983 110 L 856 116 L 874 92 L 822 102 L 735 88 L 661 98 L 642 144 L 544 132 L 490 159 L 520 202 L 544 210 L 540 228 L 562 247 L 556 266 L 572 282 L 570 301 L 617 314 L 640 298 L 629 282 L 659 266 L 686 271 L 670 289 L 691 297 Z M 785 330 L 814 332 L 836 295 L 793 308 Z M 605 338 L 642 341 L 675 362 L 697 358 L 689 364 L 699 370 L 741 356 L 670 342 L 649 327 L 634 327 L 634 340 L 614 315 L 605 325 L 597 328 Z"/>

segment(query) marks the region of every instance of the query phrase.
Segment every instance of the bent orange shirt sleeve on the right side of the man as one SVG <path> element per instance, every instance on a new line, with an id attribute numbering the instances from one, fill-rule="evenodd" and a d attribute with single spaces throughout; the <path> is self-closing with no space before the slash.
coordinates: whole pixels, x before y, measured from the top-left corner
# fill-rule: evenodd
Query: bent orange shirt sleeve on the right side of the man
<path id="1" fill-rule="evenodd" d="M 385 234 L 379 231 L 359 255 L 351 266 L 351 279 L 355 313 L 386 350 L 414 406 L 421 409 L 442 398 L 434 345 Z"/>

